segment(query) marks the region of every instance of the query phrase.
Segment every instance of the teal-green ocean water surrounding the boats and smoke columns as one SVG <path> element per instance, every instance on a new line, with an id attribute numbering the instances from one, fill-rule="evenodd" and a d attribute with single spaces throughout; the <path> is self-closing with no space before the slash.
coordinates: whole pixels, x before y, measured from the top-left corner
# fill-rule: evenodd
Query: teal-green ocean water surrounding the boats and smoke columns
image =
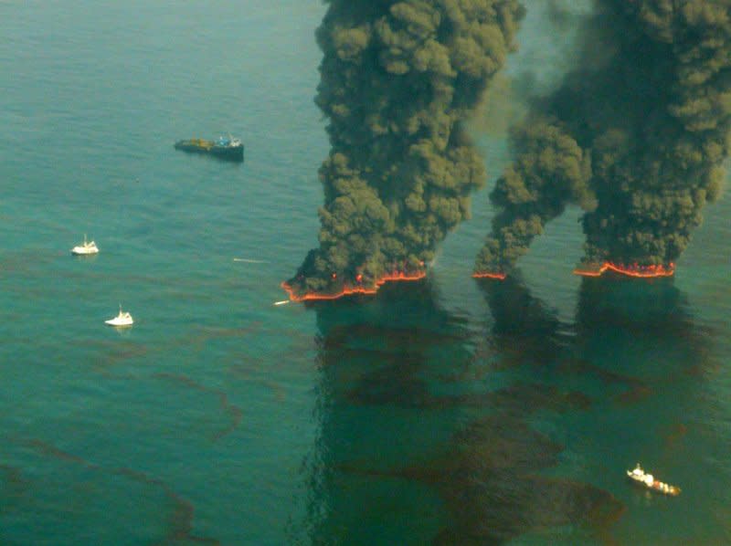
<path id="1" fill-rule="evenodd" d="M 0 2 L 0 544 L 731 543 L 728 198 L 672 279 L 572 276 L 569 211 L 475 282 L 483 190 L 425 282 L 272 305 L 316 244 L 323 12 Z M 561 64 L 540 27 L 508 74 Z M 173 150 L 219 132 L 245 163 Z"/>

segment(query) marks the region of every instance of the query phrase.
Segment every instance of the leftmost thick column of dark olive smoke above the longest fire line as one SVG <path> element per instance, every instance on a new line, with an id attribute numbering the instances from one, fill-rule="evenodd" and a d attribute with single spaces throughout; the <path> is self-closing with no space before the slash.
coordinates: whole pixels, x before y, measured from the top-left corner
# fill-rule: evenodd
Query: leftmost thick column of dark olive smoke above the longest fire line
<path id="1" fill-rule="evenodd" d="M 484 183 L 463 122 L 514 48 L 517 0 L 330 0 L 316 103 L 332 150 L 320 169 L 320 247 L 293 298 L 419 276 Z"/>

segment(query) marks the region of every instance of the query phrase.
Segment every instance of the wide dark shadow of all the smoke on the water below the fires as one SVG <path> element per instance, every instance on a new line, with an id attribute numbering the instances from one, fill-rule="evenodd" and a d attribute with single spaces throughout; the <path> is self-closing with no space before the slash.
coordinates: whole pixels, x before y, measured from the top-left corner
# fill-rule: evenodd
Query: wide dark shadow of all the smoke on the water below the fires
<path id="1" fill-rule="evenodd" d="M 652 446 L 675 434 L 683 449 L 692 394 L 675 383 L 703 360 L 682 292 L 672 279 L 585 279 L 567 323 L 517 275 L 479 287 L 482 331 L 444 309 L 429 279 L 312 306 L 319 430 L 302 465 L 306 521 L 291 533 L 316 544 L 613 543 L 631 527 L 626 507 L 643 492 L 624 469 L 635 457 L 676 466 Z M 648 413 L 667 396 L 677 411 Z"/>

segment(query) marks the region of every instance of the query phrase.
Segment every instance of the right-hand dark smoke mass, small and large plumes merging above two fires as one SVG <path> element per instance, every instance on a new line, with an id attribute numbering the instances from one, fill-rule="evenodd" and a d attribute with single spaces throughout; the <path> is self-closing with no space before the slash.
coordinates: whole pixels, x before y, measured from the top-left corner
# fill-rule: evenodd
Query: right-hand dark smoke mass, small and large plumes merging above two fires
<path id="1" fill-rule="evenodd" d="M 586 211 L 588 264 L 672 271 L 719 194 L 731 3 L 597 0 L 584 32 L 579 68 L 514 130 L 476 274 L 509 271 L 567 204 Z"/>

